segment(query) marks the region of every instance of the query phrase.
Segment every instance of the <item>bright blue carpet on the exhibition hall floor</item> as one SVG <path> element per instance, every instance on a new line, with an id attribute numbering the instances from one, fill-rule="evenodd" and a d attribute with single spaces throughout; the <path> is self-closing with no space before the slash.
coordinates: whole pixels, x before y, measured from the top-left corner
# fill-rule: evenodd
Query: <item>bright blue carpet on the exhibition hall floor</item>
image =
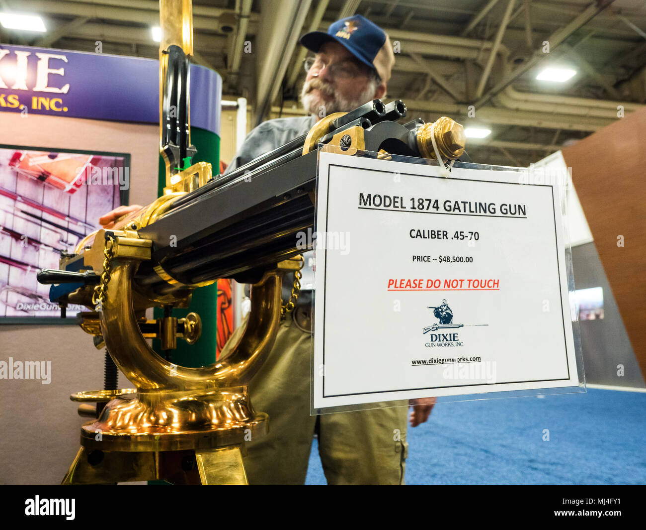
<path id="1" fill-rule="evenodd" d="M 443 403 L 408 443 L 407 484 L 646 484 L 646 393 Z M 306 483 L 326 483 L 316 440 Z"/>

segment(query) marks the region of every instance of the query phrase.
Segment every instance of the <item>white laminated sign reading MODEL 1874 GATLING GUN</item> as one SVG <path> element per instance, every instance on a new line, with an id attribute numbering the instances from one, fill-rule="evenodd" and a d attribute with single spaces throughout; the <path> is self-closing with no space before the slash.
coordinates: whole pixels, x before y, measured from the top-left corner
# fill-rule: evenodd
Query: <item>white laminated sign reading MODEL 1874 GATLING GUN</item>
<path id="1" fill-rule="evenodd" d="M 314 408 L 579 385 L 558 185 L 319 156 Z"/>

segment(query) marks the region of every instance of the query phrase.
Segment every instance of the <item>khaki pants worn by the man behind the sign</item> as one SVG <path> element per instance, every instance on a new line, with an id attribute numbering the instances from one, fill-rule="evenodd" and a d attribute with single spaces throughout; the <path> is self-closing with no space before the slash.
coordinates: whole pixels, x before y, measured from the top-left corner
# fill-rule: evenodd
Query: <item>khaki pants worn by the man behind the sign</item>
<path id="1" fill-rule="evenodd" d="M 247 442 L 251 484 L 304 484 L 317 416 L 309 415 L 311 335 L 288 315 L 269 358 L 249 385 L 269 414 L 269 434 Z M 320 415 L 318 453 L 328 484 L 403 484 L 408 407 Z"/>

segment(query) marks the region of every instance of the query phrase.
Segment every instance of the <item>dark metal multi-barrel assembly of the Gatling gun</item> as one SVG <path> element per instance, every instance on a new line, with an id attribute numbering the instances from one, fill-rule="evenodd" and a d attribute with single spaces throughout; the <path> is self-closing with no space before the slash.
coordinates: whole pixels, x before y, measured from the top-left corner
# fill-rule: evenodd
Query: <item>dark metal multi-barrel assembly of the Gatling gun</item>
<path id="1" fill-rule="evenodd" d="M 331 128 L 338 133 L 354 120 L 362 128 L 370 122 L 362 133 L 367 151 L 388 145 L 392 155 L 419 157 L 417 140 L 410 140 L 421 121 L 406 127 L 384 120 L 405 113 L 400 100 L 388 105 L 375 100 L 338 118 Z M 298 242 L 299 234 L 314 228 L 318 152 L 303 155 L 302 142 L 303 137 L 295 138 L 214 178 L 139 228 L 138 235 L 152 241 L 152 255 L 141 263 L 135 282 L 160 295 L 216 278 L 254 283 L 267 268 L 306 250 Z"/>

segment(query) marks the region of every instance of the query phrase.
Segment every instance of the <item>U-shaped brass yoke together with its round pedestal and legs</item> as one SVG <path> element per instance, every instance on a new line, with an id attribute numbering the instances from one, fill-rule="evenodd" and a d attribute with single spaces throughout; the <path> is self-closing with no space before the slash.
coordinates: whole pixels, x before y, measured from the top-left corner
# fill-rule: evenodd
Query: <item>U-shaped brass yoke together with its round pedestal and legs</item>
<path id="1" fill-rule="evenodd" d="M 102 236 L 96 237 L 89 261 L 95 252 L 103 254 Z M 85 401 L 114 399 L 81 428 L 82 447 L 63 483 L 246 484 L 244 440 L 263 436 L 268 428 L 267 415 L 251 405 L 247 384 L 280 325 L 282 274 L 297 270 L 302 258 L 282 261 L 253 285 L 247 326 L 236 330 L 218 362 L 187 368 L 157 355 L 141 333 L 132 288 L 134 272 L 147 259 L 141 248 L 132 232 L 116 233 L 100 312 L 110 356 L 135 388 L 85 393 Z"/>

